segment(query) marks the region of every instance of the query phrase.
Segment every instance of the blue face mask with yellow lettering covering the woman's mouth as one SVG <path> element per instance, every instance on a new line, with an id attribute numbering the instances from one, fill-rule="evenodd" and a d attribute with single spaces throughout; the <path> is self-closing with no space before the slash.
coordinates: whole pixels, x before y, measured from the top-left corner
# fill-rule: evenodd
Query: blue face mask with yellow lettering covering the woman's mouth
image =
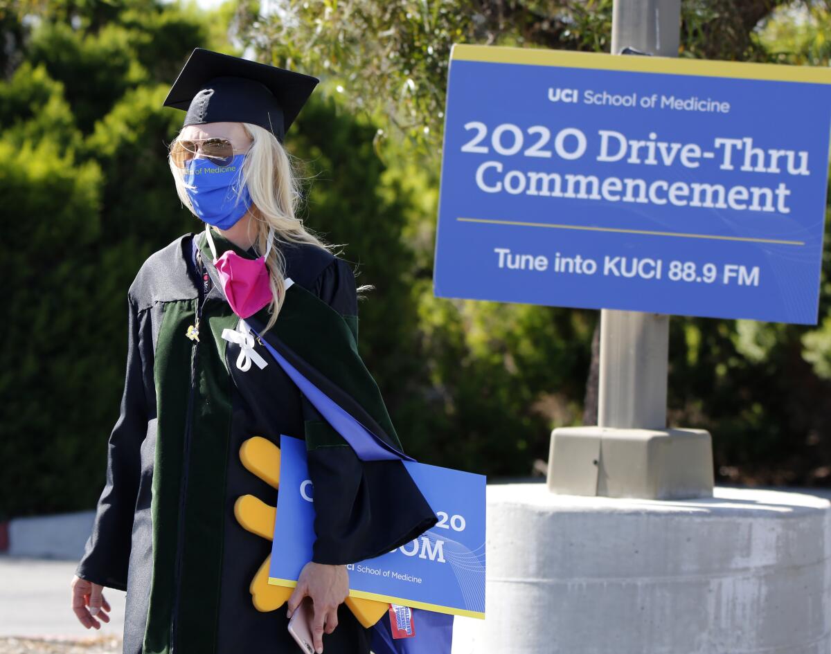
<path id="1" fill-rule="evenodd" d="M 237 154 L 229 165 L 219 168 L 208 159 L 190 159 L 184 172 L 194 213 L 201 220 L 219 229 L 230 229 L 251 207 L 248 187 L 243 186 L 237 199 L 241 182 L 244 154 Z"/>

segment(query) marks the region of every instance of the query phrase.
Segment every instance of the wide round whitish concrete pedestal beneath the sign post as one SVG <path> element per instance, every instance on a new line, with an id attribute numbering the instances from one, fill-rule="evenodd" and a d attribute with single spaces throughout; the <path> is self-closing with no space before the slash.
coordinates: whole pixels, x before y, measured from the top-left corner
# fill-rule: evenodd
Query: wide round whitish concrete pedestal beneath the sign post
<path id="1" fill-rule="evenodd" d="M 454 654 L 828 654 L 831 504 L 488 487 L 487 618 Z"/>

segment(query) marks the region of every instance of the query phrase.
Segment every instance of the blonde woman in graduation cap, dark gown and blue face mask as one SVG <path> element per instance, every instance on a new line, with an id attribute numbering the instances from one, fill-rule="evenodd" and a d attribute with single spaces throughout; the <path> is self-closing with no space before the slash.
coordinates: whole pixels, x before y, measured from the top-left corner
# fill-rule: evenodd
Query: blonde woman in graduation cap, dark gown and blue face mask
<path id="1" fill-rule="evenodd" d="M 436 522 L 401 461 L 359 459 L 264 348 L 400 451 L 357 354 L 352 269 L 295 216 L 283 137 L 316 84 L 198 48 L 165 100 L 187 110 L 170 168 L 206 230 L 155 252 L 130 286 L 121 412 L 72 581 L 86 628 L 109 621 L 103 587 L 126 591 L 125 654 L 297 652 L 288 613 L 306 596 L 317 652 L 365 654 L 368 630 L 342 604 L 345 565 Z M 238 452 L 281 434 L 306 439 L 317 540 L 288 612 L 260 613 L 248 587 L 270 544 L 238 524 L 234 502 L 273 505 L 275 493 Z"/>

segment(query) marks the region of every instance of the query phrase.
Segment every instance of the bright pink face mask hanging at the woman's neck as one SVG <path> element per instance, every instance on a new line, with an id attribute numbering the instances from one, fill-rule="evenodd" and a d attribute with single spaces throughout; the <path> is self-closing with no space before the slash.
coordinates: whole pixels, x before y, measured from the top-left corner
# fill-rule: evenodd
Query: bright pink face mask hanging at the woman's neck
<path id="1" fill-rule="evenodd" d="M 214 266 L 222 281 L 222 290 L 231 305 L 231 310 L 240 318 L 248 318 L 268 305 L 273 295 L 265 260 L 271 253 L 274 230 L 268 230 L 268 246 L 265 254 L 258 259 L 246 259 L 233 250 L 225 251 L 217 258 L 214 237 L 211 236 L 209 225 L 205 225 L 205 234 L 211 254 L 214 255 Z"/>

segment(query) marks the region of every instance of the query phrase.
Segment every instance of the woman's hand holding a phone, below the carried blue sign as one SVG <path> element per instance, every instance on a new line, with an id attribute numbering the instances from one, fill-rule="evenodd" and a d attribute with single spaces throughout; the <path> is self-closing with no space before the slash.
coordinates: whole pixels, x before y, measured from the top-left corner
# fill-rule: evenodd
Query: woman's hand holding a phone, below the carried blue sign
<path id="1" fill-rule="evenodd" d="M 312 644 L 315 652 L 323 652 L 323 632 L 332 633 L 337 627 L 337 607 L 349 595 L 349 575 L 345 565 L 316 564 L 303 566 L 297 588 L 288 598 L 288 617 L 300 606 L 303 598 L 312 598 Z M 324 629 L 324 624 L 326 628 Z"/>

